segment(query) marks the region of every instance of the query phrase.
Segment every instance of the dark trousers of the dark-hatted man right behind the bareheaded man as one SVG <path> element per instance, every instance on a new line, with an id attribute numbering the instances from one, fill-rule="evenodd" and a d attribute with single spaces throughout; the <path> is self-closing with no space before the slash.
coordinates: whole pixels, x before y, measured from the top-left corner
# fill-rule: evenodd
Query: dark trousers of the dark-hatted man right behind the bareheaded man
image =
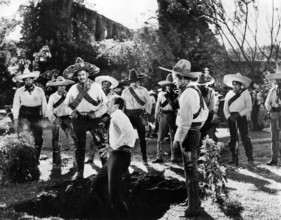
<path id="1" fill-rule="evenodd" d="M 128 117 L 129 117 L 133 127 L 135 129 L 137 129 L 137 132 L 139 135 L 139 140 L 140 140 L 142 159 L 147 160 L 144 120 L 143 120 L 143 118 L 140 118 L 140 117 L 132 117 L 132 116 L 128 116 Z"/>

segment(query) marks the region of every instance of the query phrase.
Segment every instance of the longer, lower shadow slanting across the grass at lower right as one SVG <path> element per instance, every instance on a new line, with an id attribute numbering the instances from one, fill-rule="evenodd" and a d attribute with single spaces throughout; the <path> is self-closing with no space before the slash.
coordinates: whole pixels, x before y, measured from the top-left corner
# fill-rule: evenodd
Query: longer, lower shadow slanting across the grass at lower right
<path id="1" fill-rule="evenodd" d="M 231 179 L 231 180 L 234 180 L 237 182 L 253 184 L 257 188 L 258 191 L 262 191 L 262 192 L 265 192 L 268 194 L 276 194 L 278 192 L 278 190 L 271 189 L 266 186 L 266 185 L 271 184 L 267 180 L 245 175 L 245 174 L 239 173 L 236 170 L 228 170 L 226 175 L 227 175 L 228 179 Z"/>

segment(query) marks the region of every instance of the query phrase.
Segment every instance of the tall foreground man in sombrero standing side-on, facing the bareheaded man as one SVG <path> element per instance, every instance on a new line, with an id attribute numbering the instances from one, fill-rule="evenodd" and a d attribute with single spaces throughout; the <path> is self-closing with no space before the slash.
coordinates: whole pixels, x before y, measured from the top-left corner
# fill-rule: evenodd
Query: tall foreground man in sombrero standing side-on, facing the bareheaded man
<path id="1" fill-rule="evenodd" d="M 166 69 L 167 70 L 167 69 Z M 200 129 L 208 117 L 208 108 L 200 90 L 193 82 L 200 72 L 191 72 L 191 63 L 181 59 L 172 70 L 173 82 L 180 91 L 179 110 L 176 118 L 178 126 L 174 147 L 179 146 L 184 161 L 184 172 L 188 206 L 186 217 L 200 215 L 199 177 L 197 169 L 197 151 L 200 143 Z"/>

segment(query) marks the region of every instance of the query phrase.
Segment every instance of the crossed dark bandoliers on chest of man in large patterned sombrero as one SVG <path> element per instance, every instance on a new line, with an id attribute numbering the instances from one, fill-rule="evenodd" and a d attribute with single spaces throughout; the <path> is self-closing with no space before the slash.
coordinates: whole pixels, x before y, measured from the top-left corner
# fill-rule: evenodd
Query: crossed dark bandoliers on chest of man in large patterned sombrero
<path id="1" fill-rule="evenodd" d="M 74 110 L 77 108 L 77 106 L 81 103 L 82 99 L 86 99 L 86 101 L 88 101 L 90 104 L 94 105 L 94 106 L 98 106 L 100 101 L 96 101 L 94 100 L 89 94 L 88 94 L 88 91 L 90 90 L 91 88 L 91 85 L 93 84 L 94 82 L 90 79 L 87 80 L 86 83 L 84 84 L 80 84 L 78 83 L 77 84 L 77 89 L 78 89 L 78 96 L 76 96 L 75 100 L 69 104 L 69 107 Z"/>

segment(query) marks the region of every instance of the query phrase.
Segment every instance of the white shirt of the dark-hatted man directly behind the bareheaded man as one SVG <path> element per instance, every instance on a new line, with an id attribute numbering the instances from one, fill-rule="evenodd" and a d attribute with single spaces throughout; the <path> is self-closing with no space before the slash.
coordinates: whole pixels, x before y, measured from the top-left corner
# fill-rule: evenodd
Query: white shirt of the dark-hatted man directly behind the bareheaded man
<path id="1" fill-rule="evenodd" d="M 138 86 L 137 88 L 133 88 L 135 93 L 137 94 L 137 96 L 143 102 L 145 102 L 145 105 L 141 105 L 137 102 L 135 97 L 131 94 L 129 88 L 124 89 L 123 92 L 122 92 L 122 95 L 121 95 L 121 97 L 125 101 L 125 108 L 129 109 L 129 110 L 143 109 L 147 113 L 150 114 L 151 110 L 152 110 L 152 103 L 151 103 L 151 100 L 150 100 L 149 93 L 148 93 L 147 89 L 142 87 L 142 86 Z"/>

